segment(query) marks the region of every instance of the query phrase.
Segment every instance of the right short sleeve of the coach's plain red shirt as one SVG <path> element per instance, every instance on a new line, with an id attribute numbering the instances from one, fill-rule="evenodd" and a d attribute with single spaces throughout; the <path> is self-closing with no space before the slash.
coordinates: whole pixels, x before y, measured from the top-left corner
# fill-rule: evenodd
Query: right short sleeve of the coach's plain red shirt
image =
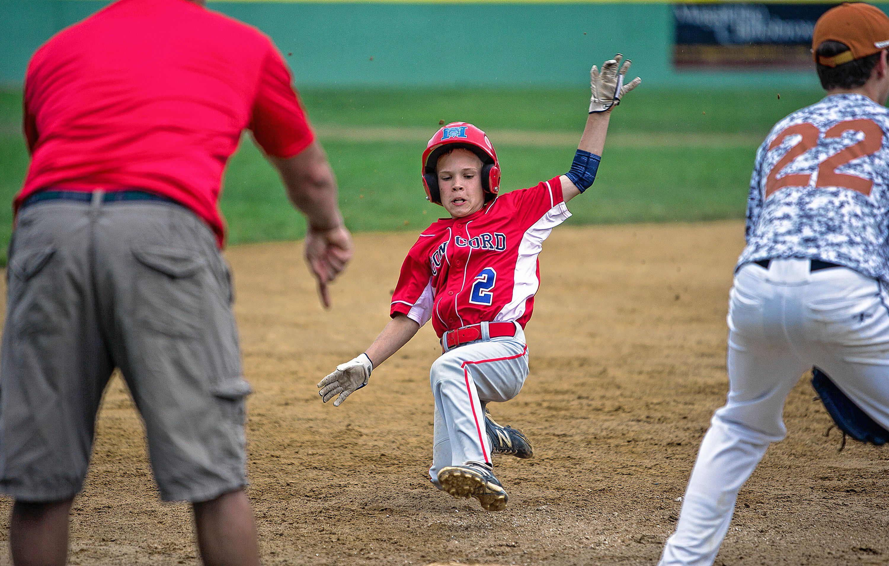
<path id="1" fill-rule="evenodd" d="M 253 101 L 250 129 L 268 155 L 292 157 L 315 140 L 281 54 L 269 45 Z"/>

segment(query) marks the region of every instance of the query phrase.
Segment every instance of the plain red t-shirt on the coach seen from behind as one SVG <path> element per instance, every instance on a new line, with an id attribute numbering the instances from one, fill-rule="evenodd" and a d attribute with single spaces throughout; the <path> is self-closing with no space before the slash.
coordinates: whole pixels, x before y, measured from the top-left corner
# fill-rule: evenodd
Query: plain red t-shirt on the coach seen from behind
<path id="1" fill-rule="evenodd" d="M 120 0 L 31 59 L 14 208 L 44 188 L 144 189 L 195 211 L 221 246 L 222 170 L 245 128 L 277 157 L 314 140 L 271 40 L 186 0 Z"/>

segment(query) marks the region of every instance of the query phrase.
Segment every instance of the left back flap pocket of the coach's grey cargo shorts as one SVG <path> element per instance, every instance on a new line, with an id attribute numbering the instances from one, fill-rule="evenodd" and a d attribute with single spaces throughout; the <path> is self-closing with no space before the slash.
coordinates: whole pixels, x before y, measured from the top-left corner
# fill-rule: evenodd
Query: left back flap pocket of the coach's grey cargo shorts
<path id="1" fill-rule="evenodd" d="M 58 278 L 48 268 L 56 251 L 52 247 L 17 251 L 9 276 L 12 328 L 24 334 L 51 331 L 60 323 Z"/>

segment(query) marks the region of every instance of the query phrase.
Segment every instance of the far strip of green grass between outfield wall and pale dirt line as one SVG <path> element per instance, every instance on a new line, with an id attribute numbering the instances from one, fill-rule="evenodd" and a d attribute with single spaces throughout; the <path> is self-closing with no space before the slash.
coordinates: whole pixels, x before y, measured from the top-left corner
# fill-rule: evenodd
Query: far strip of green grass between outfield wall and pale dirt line
<path id="1" fill-rule="evenodd" d="M 300 94 L 318 124 L 424 126 L 433 131 L 439 120 L 461 120 L 491 130 L 581 132 L 584 110 L 589 107 L 589 92 L 584 89 L 324 90 Z M 613 126 L 631 132 L 749 132 L 765 136 L 779 118 L 812 104 L 821 95 L 647 90 L 642 85 L 615 111 Z"/>

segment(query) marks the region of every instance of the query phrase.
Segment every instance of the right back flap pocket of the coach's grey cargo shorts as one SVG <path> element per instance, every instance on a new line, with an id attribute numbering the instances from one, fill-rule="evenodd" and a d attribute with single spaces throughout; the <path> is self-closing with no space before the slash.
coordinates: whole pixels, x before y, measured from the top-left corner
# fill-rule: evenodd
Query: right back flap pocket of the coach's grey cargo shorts
<path id="1" fill-rule="evenodd" d="M 137 322 L 174 338 L 193 338 L 202 328 L 206 260 L 199 251 L 160 245 L 134 247 L 145 267 L 135 274 Z"/>

